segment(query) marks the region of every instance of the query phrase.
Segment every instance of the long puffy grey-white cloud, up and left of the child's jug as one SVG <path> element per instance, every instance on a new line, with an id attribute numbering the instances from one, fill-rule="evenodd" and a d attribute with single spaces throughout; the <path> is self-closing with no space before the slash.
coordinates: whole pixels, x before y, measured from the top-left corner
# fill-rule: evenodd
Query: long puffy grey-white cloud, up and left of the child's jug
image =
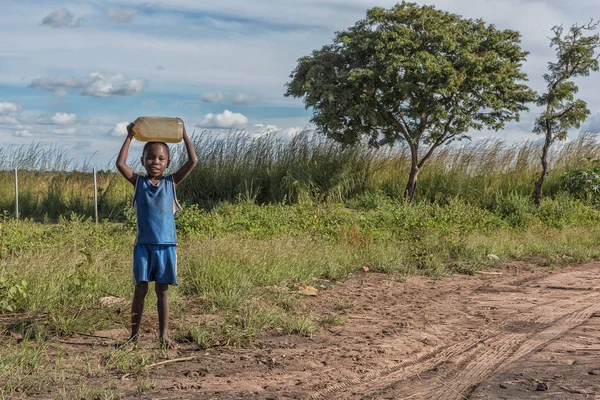
<path id="1" fill-rule="evenodd" d="M 121 73 L 93 72 L 85 79 L 76 77 L 42 77 L 34 79 L 29 87 L 40 88 L 64 96 L 69 90 L 81 89 L 81 95 L 91 97 L 134 96 L 144 90 L 143 79 L 127 80 Z"/>

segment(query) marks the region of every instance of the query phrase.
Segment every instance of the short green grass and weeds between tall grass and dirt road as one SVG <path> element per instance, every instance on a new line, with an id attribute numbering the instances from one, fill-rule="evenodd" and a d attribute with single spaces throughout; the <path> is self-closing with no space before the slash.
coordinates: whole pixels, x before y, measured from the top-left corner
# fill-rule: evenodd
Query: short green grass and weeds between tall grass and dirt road
<path id="1" fill-rule="evenodd" d="M 170 290 L 172 335 L 207 349 L 243 346 L 263 333 L 312 336 L 319 325 L 343 325 L 352 299 L 324 315 L 306 313 L 298 287 L 347 279 L 363 267 L 403 280 L 472 274 L 510 260 L 554 268 L 598 259 L 599 219 L 595 209 L 562 197 L 547 199 L 540 208 L 515 197 L 491 211 L 461 200 L 412 207 L 386 200 L 368 209 L 188 207 L 177 221 L 180 286 Z M 115 307 L 100 307 L 99 299 L 131 299 L 130 223 L 8 220 L 0 235 L 0 285 L 22 286 L 0 302 L 0 397 L 59 388 L 59 394 L 76 390 L 82 398 L 118 398 L 111 376 L 143 377 L 147 365 L 164 357 L 156 351 L 106 349 L 100 358 L 82 353 L 74 365 L 61 361 L 67 358 L 57 343 L 76 332 L 128 329 L 128 302 L 116 313 Z M 146 301 L 143 326 L 155 329 L 152 290 Z M 73 388 L 65 376 L 80 377 L 80 386 Z M 97 384 L 89 386 L 86 377 Z"/>

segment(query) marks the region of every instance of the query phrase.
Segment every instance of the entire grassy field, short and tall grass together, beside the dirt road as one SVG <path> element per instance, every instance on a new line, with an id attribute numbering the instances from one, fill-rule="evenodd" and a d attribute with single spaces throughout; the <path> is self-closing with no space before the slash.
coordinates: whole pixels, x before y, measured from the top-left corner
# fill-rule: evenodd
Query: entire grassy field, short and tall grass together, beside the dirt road
<path id="1" fill-rule="evenodd" d="M 201 165 L 178 192 L 187 206 L 176 219 L 175 340 L 206 349 L 243 346 L 263 333 L 314 335 L 344 318 L 302 312 L 301 289 L 367 269 L 402 281 L 515 261 L 555 268 L 600 258 L 599 212 L 564 192 L 559 179 L 597 158 L 591 136 L 554 154 L 539 207 L 531 197 L 532 144 L 446 148 L 425 168 L 418 198 L 407 205 L 399 200 L 407 167 L 401 149 L 351 150 L 300 139 L 270 143 L 283 146 L 275 156 L 260 140 L 197 138 Z M 265 153 L 258 156 L 260 146 Z M 48 169 L 53 162 L 46 161 Z M 104 222 L 96 225 L 89 171 L 65 165 L 58 172 L 35 163 L 35 171 L 23 170 L 22 212 L 31 218 L 11 218 L 10 190 L 0 194 L 0 398 L 48 388 L 69 397 L 66 376 L 83 379 L 78 398 L 117 398 L 114 388 L 86 386 L 85 377 L 143 373 L 165 356 L 105 349 L 77 365 L 61 362 L 65 338 L 128 329 L 135 229 L 124 179 L 99 174 Z M 11 187 L 11 179 L 11 171 L 1 172 L 1 187 Z M 107 296 L 125 302 L 103 306 Z M 143 326 L 152 329 L 154 302 L 150 291 Z M 348 301 L 338 309 L 351 307 Z M 207 316 L 212 323 L 203 322 Z M 149 383 L 139 385 L 143 392 Z"/>

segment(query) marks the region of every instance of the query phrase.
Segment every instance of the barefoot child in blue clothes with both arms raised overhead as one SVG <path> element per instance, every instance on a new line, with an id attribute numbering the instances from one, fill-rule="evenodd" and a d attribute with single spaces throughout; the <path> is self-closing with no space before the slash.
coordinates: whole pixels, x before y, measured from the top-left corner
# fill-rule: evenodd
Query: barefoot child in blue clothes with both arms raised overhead
<path id="1" fill-rule="evenodd" d="M 137 218 L 137 236 L 133 248 L 133 276 L 135 291 L 131 304 L 131 338 L 137 344 L 144 299 L 148 282 L 155 281 L 157 297 L 159 344 L 175 348 L 169 340 L 169 285 L 177 285 L 177 255 L 175 245 L 175 213 L 179 204 L 175 186 L 198 163 L 194 146 L 183 128 L 183 142 L 188 160 L 173 175 L 163 176 L 170 163 L 169 147 L 162 142 L 147 142 L 142 151 L 142 165 L 146 175 L 134 173 L 126 164 L 129 145 L 133 138 L 133 123 L 127 126 L 127 137 L 117 157 L 117 169 L 135 187 L 133 207 Z"/>

